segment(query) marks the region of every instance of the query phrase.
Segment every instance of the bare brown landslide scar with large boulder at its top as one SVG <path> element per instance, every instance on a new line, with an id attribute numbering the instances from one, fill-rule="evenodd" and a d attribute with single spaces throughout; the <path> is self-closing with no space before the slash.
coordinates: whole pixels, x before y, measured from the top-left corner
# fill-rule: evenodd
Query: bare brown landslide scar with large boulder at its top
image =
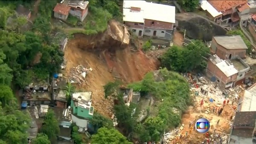
<path id="1" fill-rule="evenodd" d="M 76 83 L 77 89 L 91 91 L 94 109 L 108 118 L 113 114 L 113 101 L 104 98 L 103 86 L 114 79 L 124 84 L 140 81 L 159 64 L 140 50 L 131 51 L 127 37 L 127 28 L 111 21 L 103 34 L 75 35 L 64 50 L 67 61 L 64 75 Z"/>

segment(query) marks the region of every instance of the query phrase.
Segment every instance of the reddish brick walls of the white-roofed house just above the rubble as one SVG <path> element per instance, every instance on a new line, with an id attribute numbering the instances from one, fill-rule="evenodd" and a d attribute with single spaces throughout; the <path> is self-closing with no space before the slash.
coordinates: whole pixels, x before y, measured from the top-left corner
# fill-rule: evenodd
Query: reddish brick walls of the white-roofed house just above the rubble
<path id="1" fill-rule="evenodd" d="M 232 81 L 236 81 L 237 74 L 232 75 L 228 78 L 218 67 L 213 64 L 210 60 L 208 60 L 207 70 L 212 73 L 219 81 L 223 82 L 224 84 L 230 83 Z"/>

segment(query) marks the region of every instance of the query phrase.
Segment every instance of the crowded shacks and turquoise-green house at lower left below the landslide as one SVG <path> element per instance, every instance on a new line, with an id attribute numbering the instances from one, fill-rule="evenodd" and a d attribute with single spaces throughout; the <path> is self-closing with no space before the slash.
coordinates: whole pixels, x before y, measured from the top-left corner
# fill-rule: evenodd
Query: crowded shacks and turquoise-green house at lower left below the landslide
<path id="1" fill-rule="evenodd" d="M 62 74 L 55 74 L 51 84 L 46 81 L 34 80 L 23 89 L 23 103 L 21 107 L 27 110 L 32 118 L 29 127 L 28 143 L 36 138 L 41 129 L 44 115 L 52 109 L 59 121 L 61 133 L 58 139 L 68 144 L 71 141 L 71 124 L 75 123 L 80 129 L 87 130 L 90 119 L 93 117 L 92 92 L 79 92 L 72 95 L 71 106 L 67 107 L 66 79 Z M 22 92 L 21 92 L 22 93 Z"/>

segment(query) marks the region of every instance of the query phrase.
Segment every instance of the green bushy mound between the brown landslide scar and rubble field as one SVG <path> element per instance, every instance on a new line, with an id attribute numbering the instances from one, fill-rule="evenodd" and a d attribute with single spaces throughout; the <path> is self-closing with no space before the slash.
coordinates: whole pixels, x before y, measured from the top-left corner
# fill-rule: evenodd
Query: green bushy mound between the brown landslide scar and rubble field
<path id="1" fill-rule="evenodd" d="M 156 76 L 154 76 L 156 75 Z M 174 128 L 180 124 L 181 113 L 191 104 L 189 84 L 176 72 L 160 69 L 159 73 L 149 72 L 140 82 L 129 84 L 128 87 L 150 93 L 158 101 L 152 111 L 157 113 L 148 117 L 143 124 L 137 124 L 135 133 L 140 141 L 159 141 L 164 129 Z M 155 81 L 160 79 L 160 81 Z"/>

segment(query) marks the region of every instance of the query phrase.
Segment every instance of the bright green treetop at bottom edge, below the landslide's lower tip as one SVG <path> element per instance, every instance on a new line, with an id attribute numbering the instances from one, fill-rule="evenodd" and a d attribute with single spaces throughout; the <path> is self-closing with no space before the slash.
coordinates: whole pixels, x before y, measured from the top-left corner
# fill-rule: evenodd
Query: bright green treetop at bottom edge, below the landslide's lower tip
<path id="1" fill-rule="evenodd" d="M 132 144 L 118 130 L 113 128 L 99 128 L 92 136 L 92 144 Z"/>

